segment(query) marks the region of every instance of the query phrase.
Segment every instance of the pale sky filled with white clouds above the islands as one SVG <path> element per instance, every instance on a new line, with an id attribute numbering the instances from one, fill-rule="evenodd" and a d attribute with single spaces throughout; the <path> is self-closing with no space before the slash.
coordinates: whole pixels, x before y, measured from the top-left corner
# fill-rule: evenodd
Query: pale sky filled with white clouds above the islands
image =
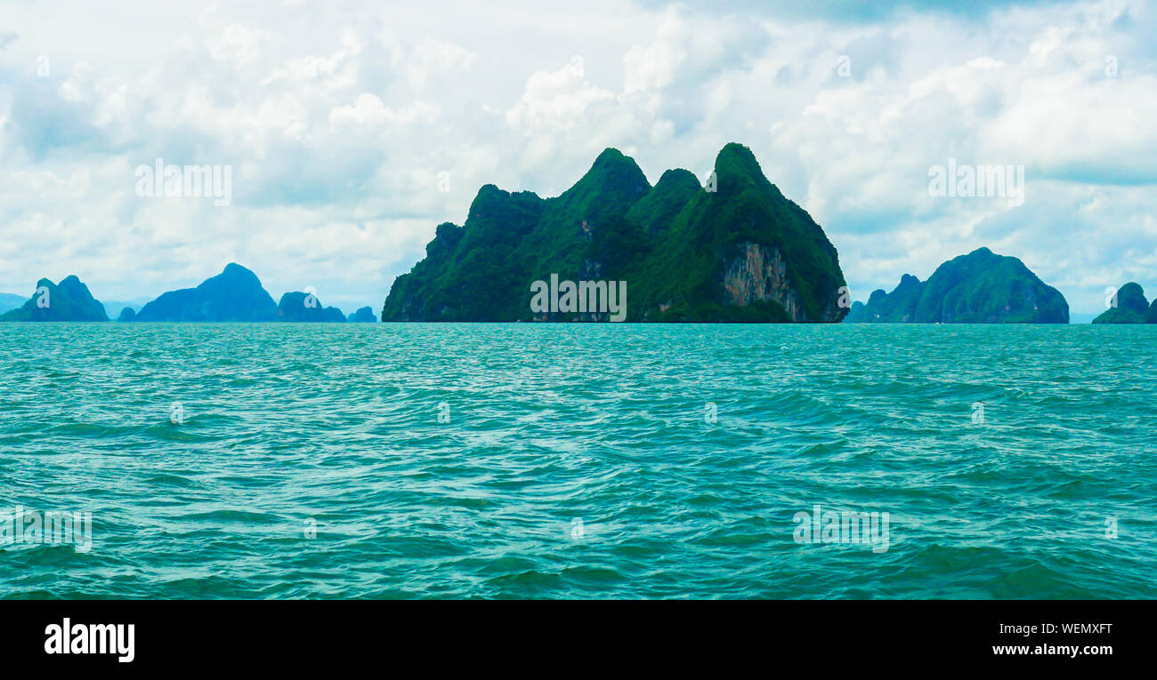
<path id="1" fill-rule="evenodd" d="M 987 245 L 1096 312 L 1157 293 L 1155 37 L 1140 0 L 6 0 L 0 291 L 237 261 L 376 311 L 482 184 L 557 195 L 605 147 L 705 178 L 738 141 L 857 300 Z M 138 195 L 156 158 L 228 165 L 230 205 Z M 1023 165 L 1023 205 L 930 195 L 949 158 Z"/>

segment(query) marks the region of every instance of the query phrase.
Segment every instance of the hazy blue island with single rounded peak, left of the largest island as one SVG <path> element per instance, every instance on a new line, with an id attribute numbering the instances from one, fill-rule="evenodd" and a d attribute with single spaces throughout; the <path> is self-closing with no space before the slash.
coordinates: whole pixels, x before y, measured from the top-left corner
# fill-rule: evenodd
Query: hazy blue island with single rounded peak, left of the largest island
<path id="1" fill-rule="evenodd" d="M 146 304 L 138 321 L 275 321 L 277 305 L 261 281 L 229 264 L 197 288 L 171 290 Z"/>

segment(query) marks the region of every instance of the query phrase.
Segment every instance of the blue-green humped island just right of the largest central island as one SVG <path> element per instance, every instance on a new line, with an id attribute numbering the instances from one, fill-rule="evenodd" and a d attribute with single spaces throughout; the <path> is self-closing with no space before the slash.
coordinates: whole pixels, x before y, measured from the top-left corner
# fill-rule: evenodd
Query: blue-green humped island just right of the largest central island
<path id="1" fill-rule="evenodd" d="M 890 294 L 855 303 L 849 323 L 1067 324 L 1064 296 L 1017 258 L 987 247 L 953 258 L 921 282 L 905 274 Z"/>

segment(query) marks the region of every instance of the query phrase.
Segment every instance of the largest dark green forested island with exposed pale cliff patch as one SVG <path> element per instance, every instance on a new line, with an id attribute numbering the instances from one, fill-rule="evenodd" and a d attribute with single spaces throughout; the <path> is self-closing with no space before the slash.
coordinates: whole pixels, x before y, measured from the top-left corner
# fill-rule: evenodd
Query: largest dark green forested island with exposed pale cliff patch
<path id="1" fill-rule="evenodd" d="M 631 321 L 834 323 L 847 313 L 823 229 L 730 143 L 706 187 L 686 170 L 651 187 L 616 149 L 557 198 L 484 186 L 465 226 L 439 226 L 426 259 L 395 280 L 382 320 L 609 318 L 532 309 L 532 286 L 552 274 L 625 281 Z"/>

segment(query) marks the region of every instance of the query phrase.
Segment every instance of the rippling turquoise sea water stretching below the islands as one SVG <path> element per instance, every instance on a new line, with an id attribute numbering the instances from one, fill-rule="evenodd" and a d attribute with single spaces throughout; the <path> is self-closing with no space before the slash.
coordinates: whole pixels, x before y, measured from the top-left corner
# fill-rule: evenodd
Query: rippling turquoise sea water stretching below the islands
<path id="1" fill-rule="evenodd" d="M 0 324 L 0 512 L 91 513 L 0 597 L 1157 597 L 1155 326 Z"/>

